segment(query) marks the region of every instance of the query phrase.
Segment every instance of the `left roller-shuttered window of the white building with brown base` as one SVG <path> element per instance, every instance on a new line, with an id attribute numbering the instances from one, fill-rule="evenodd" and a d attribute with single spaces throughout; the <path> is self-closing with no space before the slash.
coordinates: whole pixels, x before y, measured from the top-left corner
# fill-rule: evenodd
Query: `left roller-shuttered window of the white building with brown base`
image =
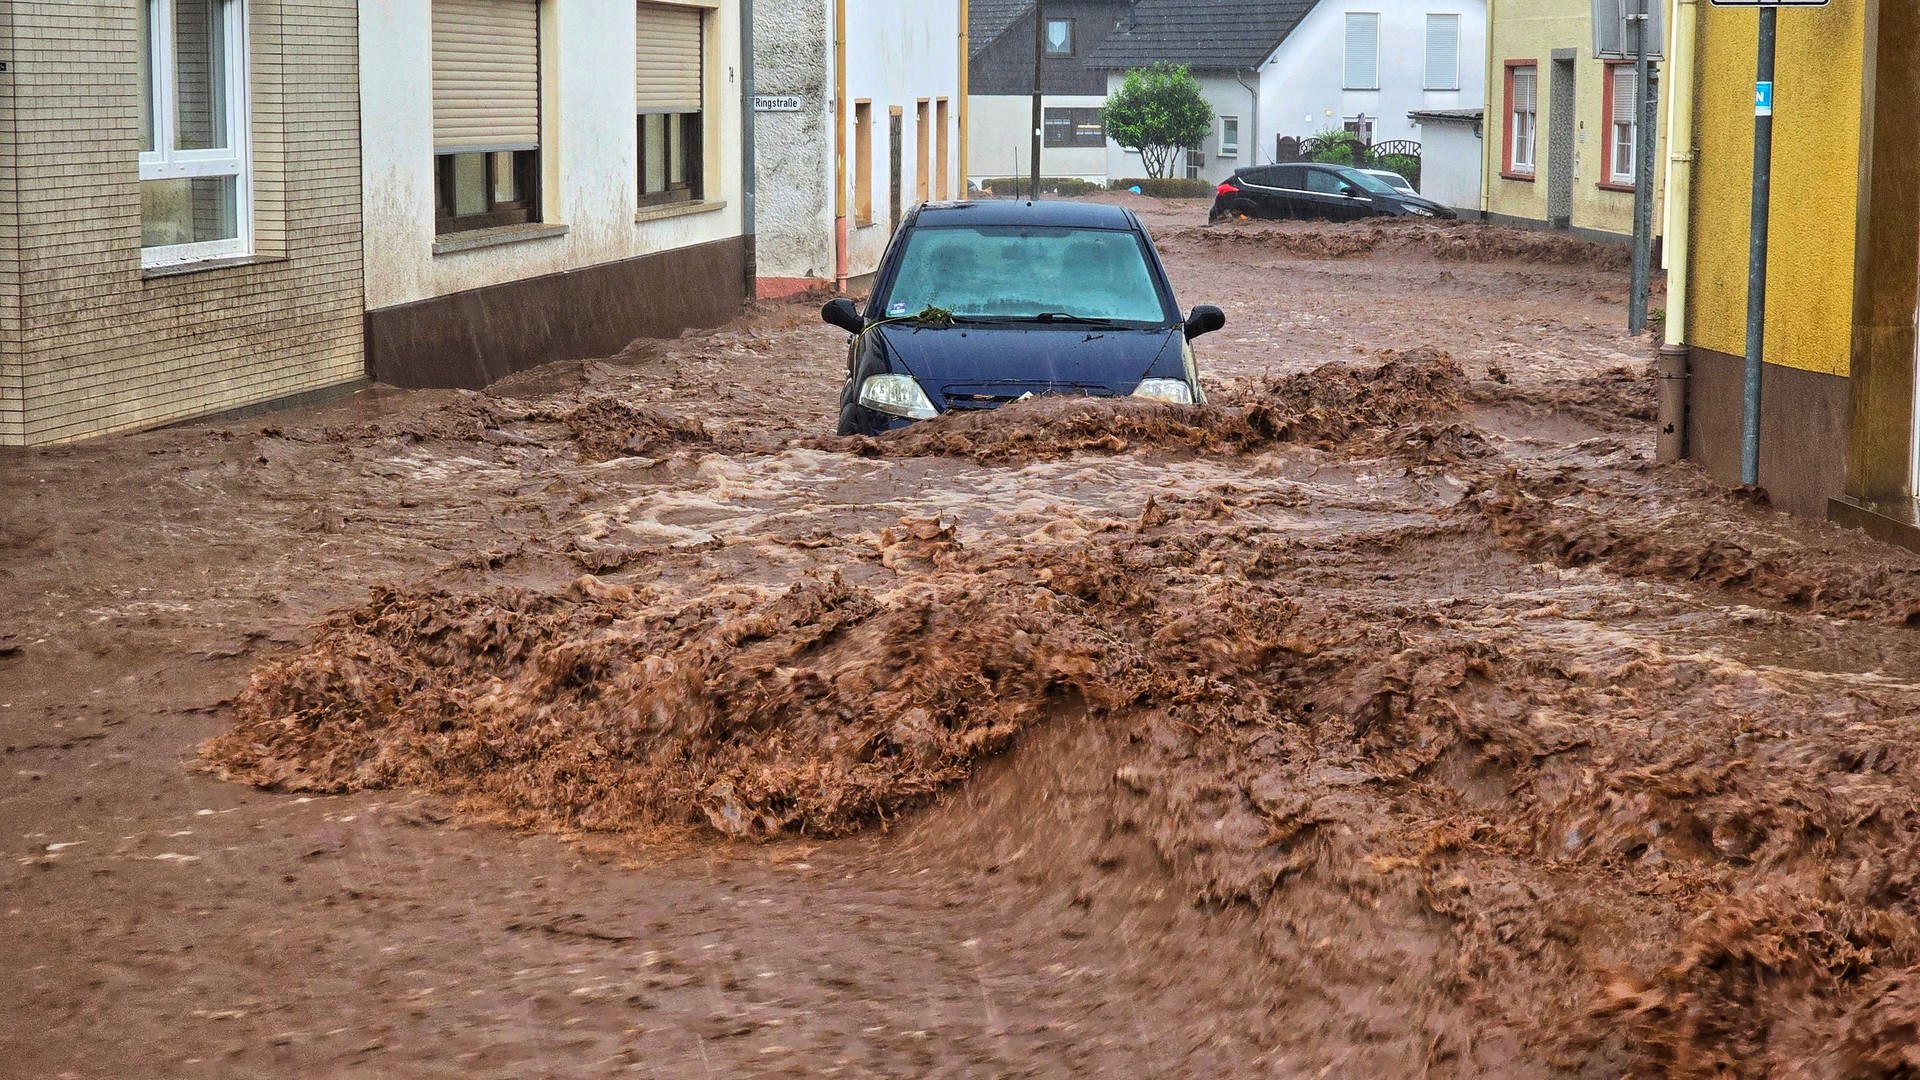
<path id="1" fill-rule="evenodd" d="M 540 221 L 540 4 L 434 0 L 434 229 Z"/>

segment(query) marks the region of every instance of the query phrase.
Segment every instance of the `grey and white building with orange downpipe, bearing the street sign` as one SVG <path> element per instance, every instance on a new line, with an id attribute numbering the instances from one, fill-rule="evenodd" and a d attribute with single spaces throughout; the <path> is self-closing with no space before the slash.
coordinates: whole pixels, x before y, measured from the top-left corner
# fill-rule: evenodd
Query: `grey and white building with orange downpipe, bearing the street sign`
<path id="1" fill-rule="evenodd" d="M 962 8 L 755 0 L 760 296 L 858 282 L 906 209 L 966 192 Z"/>

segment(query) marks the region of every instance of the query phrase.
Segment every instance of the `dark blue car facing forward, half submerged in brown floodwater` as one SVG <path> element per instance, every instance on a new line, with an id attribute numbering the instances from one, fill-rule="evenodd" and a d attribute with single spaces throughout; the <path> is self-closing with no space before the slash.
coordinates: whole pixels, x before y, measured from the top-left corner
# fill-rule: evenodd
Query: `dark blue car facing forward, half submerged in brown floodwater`
<path id="1" fill-rule="evenodd" d="M 908 211 L 866 309 L 820 309 L 852 334 L 839 432 L 879 434 L 1039 394 L 1202 404 L 1192 338 L 1133 211 L 1083 202 L 948 202 Z"/>

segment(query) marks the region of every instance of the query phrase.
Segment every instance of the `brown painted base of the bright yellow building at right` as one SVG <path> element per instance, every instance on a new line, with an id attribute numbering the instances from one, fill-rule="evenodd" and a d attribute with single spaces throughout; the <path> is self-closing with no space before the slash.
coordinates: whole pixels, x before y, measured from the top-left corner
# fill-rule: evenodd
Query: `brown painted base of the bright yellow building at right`
<path id="1" fill-rule="evenodd" d="M 1688 457 L 1715 479 L 1740 482 L 1740 405 L 1747 361 L 1692 350 Z M 1847 380 L 1797 367 L 1761 375 L 1761 486 L 1788 513 L 1826 517 L 1847 482 Z"/>

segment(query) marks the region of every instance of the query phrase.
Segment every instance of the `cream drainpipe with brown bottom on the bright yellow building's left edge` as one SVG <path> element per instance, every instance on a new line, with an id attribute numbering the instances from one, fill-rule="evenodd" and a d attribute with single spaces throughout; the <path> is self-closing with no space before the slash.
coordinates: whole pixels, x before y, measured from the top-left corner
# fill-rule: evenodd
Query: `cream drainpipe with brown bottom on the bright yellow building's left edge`
<path id="1" fill-rule="evenodd" d="M 1688 405 L 1688 286 L 1692 284 L 1693 206 L 1693 63 L 1699 38 L 1699 2 L 1674 0 L 1672 42 L 1667 50 L 1667 332 L 1661 344 L 1659 434 L 1655 457 L 1686 457 Z"/>

